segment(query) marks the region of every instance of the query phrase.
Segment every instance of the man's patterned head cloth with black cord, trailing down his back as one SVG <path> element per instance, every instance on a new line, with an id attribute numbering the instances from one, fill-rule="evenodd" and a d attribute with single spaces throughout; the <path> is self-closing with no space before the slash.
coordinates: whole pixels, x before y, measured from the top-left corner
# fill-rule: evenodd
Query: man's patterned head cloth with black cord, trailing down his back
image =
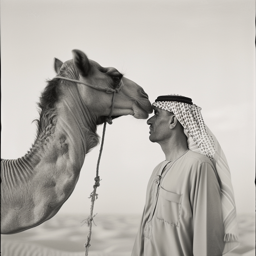
<path id="1" fill-rule="evenodd" d="M 225 254 L 239 243 L 234 191 L 228 162 L 222 148 L 204 123 L 201 108 L 193 104 L 192 99 L 178 94 L 170 94 L 159 96 L 152 106 L 174 113 L 184 128 L 184 133 L 188 138 L 188 148 L 210 158 L 218 173 L 225 232 L 223 254 Z"/>

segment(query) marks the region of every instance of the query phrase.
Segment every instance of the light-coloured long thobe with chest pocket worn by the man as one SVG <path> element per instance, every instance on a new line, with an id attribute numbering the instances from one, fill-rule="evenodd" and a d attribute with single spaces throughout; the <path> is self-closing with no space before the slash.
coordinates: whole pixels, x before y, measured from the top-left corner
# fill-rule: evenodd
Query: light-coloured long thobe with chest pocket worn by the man
<path id="1" fill-rule="evenodd" d="M 132 256 L 220 256 L 224 228 L 218 175 L 187 150 L 154 169 Z"/>

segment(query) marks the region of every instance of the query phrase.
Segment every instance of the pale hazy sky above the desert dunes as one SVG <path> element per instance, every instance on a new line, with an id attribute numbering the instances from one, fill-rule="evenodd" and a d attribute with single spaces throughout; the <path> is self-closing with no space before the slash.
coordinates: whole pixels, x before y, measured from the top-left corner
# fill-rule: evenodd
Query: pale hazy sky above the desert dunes
<path id="1" fill-rule="evenodd" d="M 254 212 L 254 21 L 254 0 L 2 0 L 1 157 L 29 150 L 53 58 L 66 61 L 80 49 L 124 72 L 151 102 L 176 93 L 202 107 L 229 162 L 237 212 Z M 142 213 L 148 179 L 165 160 L 148 131 L 132 116 L 107 126 L 94 212 Z M 89 212 L 98 153 L 99 146 L 86 156 L 60 212 Z"/>

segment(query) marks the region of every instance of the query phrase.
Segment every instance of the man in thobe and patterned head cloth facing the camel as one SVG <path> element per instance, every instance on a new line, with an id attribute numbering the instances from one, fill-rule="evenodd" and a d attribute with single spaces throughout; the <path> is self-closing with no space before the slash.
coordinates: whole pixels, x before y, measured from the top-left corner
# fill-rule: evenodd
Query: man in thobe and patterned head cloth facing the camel
<path id="1" fill-rule="evenodd" d="M 160 96 L 152 106 L 149 138 L 166 160 L 149 180 L 132 256 L 221 256 L 238 245 L 226 158 L 190 98 Z"/>

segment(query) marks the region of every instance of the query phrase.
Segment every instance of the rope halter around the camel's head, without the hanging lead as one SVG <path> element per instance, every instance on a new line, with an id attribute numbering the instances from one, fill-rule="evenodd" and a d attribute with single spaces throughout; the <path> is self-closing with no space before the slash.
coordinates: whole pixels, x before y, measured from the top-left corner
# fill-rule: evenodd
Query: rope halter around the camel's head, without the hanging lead
<path id="1" fill-rule="evenodd" d="M 111 116 L 112 116 L 113 111 L 114 111 L 114 104 L 115 104 L 116 93 L 120 92 L 122 86 L 124 85 L 122 80 L 120 80 L 120 83 L 118 84 L 118 87 L 116 87 L 115 89 L 112 89 L 112 88 L 109 88 L 109 87 L 101 87 L 101 86 L 98 86 L 98 85 L 88 84 L 86 82 L 75 80 L 75 79 L 71 79 L 71 78 L 67 78 L 67 77 L 64 77 L 64 76 L 55 76 L 55 78 L 59 78 L 59 79 L 63 79 L 63 80 L 68 80 L 68 81 L 71 81 L 71 82 L 76 82 L 78 84 L 85 84 L 85 85 L 87 85 L 87 86 L 89 86 L 91 88 L 94 88 L 96 90 L 105 91 L 106 93 L 113 93 L 111 110 L 110 110 L 110 113 L 109 113 L 108 117 L 106 117 L 106 122 L 108 122 L 108 124 L 112 124 Z"/>

